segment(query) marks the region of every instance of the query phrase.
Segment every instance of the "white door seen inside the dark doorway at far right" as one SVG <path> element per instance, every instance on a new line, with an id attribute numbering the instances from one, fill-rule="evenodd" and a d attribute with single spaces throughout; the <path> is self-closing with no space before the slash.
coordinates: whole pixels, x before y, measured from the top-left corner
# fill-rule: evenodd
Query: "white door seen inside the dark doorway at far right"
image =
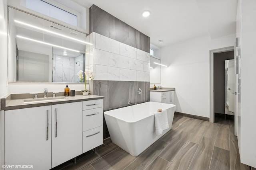
<path id="1" fill-rule="evenodd" d="M 234 60 L 228 62 L 228 111 L 235 113 L 235 63 Z"/>

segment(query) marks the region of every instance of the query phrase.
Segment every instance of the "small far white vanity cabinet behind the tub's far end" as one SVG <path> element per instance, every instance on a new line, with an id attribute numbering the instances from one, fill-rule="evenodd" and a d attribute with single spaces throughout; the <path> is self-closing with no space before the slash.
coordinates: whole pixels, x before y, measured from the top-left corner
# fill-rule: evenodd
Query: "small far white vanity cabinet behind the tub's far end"
<path id="1" fill-rule="evenodd" d="M 175 104 L 175 91 L 150 91 L 150 102 L 159 102 L 159 103 L 167 103 L 167 104 Z"/>

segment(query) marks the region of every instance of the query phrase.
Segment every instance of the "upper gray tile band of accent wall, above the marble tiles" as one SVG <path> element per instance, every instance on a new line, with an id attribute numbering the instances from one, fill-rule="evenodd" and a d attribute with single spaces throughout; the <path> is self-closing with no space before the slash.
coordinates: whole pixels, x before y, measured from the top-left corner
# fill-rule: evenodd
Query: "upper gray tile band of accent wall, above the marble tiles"
<path id="1" fill-rule="evenodd" d="M 150 52 L 150 37 L 96 5 L 90 7 L 90 33 L 96 32 L 142 51 Z"/>

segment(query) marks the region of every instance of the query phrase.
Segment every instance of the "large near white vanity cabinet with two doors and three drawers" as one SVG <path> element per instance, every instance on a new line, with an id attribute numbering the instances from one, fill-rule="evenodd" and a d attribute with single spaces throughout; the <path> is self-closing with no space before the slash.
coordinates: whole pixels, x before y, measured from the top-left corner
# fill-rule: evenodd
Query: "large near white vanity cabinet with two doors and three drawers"
<path id="1" fill-rule="evenodd" d="M 103 143 L 102 99 L 4 111 L 4 164 L 48 170 Z"/>

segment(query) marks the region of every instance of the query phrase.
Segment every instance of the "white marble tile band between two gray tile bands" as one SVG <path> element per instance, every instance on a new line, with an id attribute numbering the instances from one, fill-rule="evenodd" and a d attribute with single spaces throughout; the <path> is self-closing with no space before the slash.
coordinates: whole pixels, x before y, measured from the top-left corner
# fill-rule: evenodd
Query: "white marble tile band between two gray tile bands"
<path id="1" fill-rule="evenodd" d="M 90 34 L 89 68 L 94 80 L 150 81 L 150 54 L 114 39 Z"/>

